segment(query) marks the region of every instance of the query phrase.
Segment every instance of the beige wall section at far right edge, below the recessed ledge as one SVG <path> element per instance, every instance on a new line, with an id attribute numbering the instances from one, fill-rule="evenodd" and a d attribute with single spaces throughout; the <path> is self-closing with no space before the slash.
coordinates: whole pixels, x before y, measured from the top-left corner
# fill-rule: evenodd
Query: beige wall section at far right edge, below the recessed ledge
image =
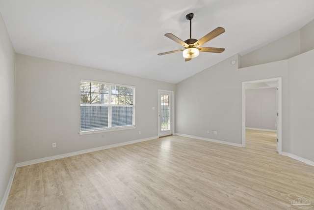
<path id="1" fill-rule="evenodd" d="M 314 50 L 288 60 L 290 153 L 314 161 Z"/>

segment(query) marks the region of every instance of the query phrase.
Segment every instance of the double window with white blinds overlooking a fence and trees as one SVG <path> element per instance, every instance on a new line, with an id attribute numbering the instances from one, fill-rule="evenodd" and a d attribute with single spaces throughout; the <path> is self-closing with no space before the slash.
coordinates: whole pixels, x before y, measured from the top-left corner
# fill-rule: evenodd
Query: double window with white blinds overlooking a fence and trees
<path id="1" fill-rule="evenodd" d="M 135 126 L 135 87 L 80 81 L 80 131 Z"/>

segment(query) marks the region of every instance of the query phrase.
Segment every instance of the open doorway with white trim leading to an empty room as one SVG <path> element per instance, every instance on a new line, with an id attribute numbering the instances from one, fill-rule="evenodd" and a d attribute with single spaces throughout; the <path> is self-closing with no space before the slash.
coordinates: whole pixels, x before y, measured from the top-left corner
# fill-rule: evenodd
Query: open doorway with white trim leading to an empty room
<path id="1" fill-rule="evenodd" d="M 262 89 L 268 89 L 268 90 L 262 90 Z M 252 92 L 250 92 L 251 90 Z M 261 93 L 264 92 L 264 94 L 265 92 L 271 92 L 272 94 L 271 97 L 275 101 L 271 102 L 269 98 L 269 103 L 272 103 L 272 104 L 267 104 L 268 103 L 267 101 L 262 101 L 262 103 L 265 103 L 264 105 L 267 105 L 267 106 L 273 105 L 275 107 L 272 107 L 272 110 L 266 110 L 267 114 L 266 112 L 262 114 L 255 113 L 254 116 L 250 116 L 249 115 L 250 110 L 246 109 L 246 106 L 249 107 L 249 106 L 254 106 L 254 103 L 261 103 L 261 99 L 260 101 L 257 100 L 255 102 L 252 102 L 252 100 L 249 101 L 250 99 L 249 96 L 250 94 L 254 94 L 258 92 L 261 92 Z M 246 96 L 248 97 L 247 99 L 246 99 Z M 253 138 L 256 135 L 261 135 L 261 137 L 265 136 L 265 137 L 269 137 L 270 139 L 275 138 L 276 150 L 278 151 L 279 154 L 282 153 L 282 139 L 281 139 L 282 100 L 281 98 L 282 98 L 281 78 L 271 78 L 271 79 L 264 79 L 264 80 L 242 82 L 242 147 L 245 147 L 247 135 Z M 262 106 L 262 103 L 259 105 L 257 104 L 255 105 Z M 258 116 L 258 114 L 260 114 L 261 116 Z M 247 118 L 249 116 L 252 117 L 253 120 L 251 118 Z M 254 118 L 259 118 L 259 120 L 256 120 Z M 249 124 L 249 127 L 248 127 L 248 124 Z M 271 126 L 270 124 L 273 124 L 273 126 Z M 258 128 L 258 129 L 255 129 L 255 128 Z"/>

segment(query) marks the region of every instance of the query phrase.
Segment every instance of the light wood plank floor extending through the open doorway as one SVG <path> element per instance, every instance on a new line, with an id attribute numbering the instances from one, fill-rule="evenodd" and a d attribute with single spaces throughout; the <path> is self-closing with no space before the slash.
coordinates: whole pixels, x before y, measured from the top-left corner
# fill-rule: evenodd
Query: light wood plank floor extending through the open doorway
<path id="1" fill-rule="evenodd" d="M 168 136 L 20 167 L 5 210 L 287 210 L 314 203 L 314 167 L 247 130 L 246 148 Z"/>

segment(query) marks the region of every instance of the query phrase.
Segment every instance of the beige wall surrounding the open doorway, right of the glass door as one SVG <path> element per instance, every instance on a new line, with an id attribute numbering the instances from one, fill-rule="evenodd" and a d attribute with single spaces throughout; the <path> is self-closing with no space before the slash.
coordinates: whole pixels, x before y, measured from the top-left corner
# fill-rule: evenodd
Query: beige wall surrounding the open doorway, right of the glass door
<path id="1" fill-rule="evenodd" d="M 288 151 L 287 60 L 238 69 L 231 64 L 237 59 L 235 55 L 176 85 L 176 132 L 241 144 L 242 82 L 282 77 L 283 150 Z"/>

